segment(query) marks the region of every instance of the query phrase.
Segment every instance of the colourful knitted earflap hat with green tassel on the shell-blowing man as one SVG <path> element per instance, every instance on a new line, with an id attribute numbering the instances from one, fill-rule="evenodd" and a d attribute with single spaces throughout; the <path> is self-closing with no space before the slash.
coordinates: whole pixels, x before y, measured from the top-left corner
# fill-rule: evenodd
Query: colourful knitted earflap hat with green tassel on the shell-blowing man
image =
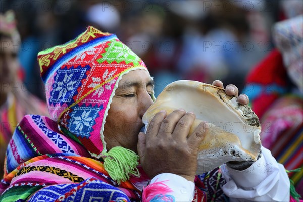
<path id="1" fill-rule="evenodd" d="M 40 52 L 38 62 L 51 118 L 91 156 L 102 157 L 114 180 L 138 175 L 138 156 L 123 147 L 107 152 L 103 131 L 121 77 L 131 70 L 147 71 L 144 62 L 116 35 L 91 26 L 76 39 Z"/>

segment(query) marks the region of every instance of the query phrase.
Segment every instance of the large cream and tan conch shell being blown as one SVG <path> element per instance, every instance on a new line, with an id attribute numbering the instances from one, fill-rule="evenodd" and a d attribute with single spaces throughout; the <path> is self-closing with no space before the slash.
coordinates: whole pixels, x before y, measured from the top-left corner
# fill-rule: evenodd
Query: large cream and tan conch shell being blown
<path id="1" fill-rule="evenodd" d="M 191 134 L 201 121 L 207 122 L 206 136 L 199 146 L 197 174 L 211 171 L 229 161 L 256 161 L 261 148 L 261 125 L 248 105 L 213 85 L 180 80 L 169 84 L 143 116 L 145 128 L 160 110 L 194 112 Z M 145 131 L 146 132 L 146 131 Z"/>

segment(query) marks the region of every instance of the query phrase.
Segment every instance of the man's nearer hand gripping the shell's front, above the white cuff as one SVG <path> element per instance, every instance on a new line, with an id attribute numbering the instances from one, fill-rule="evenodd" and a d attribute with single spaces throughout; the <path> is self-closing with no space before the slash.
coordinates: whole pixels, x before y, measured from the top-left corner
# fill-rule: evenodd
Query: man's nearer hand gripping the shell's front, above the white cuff
<path id="1" fill-rule="evenodd" d="M 194 181 L 198 147 L 205 136 L 205 123 L 189 135 L 195 115 L 183 109 L 167 115 L 158 112 L 149 123 L 147 134 L 139 133 L 138 153 L 146 174 L 173 173 Z"/>

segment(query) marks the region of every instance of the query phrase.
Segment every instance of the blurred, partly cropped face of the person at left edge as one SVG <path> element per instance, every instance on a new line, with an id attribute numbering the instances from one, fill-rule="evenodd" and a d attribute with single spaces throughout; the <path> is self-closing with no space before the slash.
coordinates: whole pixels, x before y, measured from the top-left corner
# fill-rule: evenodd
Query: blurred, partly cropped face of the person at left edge
<path id="1" fill-rule="evenodd" d="M 6 93 L 10 90 L 9 86 L 17 80 L 19 67 L 17 48 L 13 45 L 11 38 L 0 38 L 0 90 Z"/>

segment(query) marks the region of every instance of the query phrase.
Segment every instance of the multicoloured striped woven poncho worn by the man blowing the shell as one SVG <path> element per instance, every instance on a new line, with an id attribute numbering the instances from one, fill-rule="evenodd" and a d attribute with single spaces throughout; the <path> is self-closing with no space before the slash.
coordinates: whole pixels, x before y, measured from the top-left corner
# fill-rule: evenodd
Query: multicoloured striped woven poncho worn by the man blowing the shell
<path id="1" fill-rule="evenodd" d="M 45 116 L 26 115 L 21 120 L 6 157 L 0 201 L 141 201 L 139 185 L 149 181 L 139 167 L 140 178 L 131 176 L 119 185 L 102 159 L 92 159 L 78 139 Z M 204 181 L 196 177 L 193 201 L 227 201 L 220 169 L 203 176 Z"/>

